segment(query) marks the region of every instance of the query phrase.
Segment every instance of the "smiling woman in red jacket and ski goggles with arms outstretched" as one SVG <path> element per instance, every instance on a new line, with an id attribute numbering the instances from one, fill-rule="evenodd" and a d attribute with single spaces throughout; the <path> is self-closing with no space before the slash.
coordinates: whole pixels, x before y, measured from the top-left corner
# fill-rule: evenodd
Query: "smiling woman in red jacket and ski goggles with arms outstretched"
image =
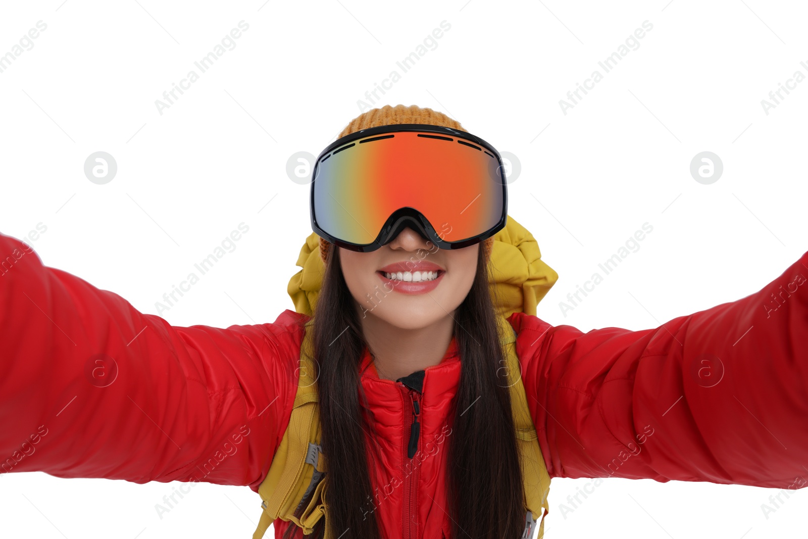
<path id="1" fill-rule="evenodd" d="M 411 158 L 398 144 L 419 135 L 402 124 L 426 135 Z M 343 139 L 373 128 L 393 136 Z M 498 156 L 428 108 L 352 120 L 314 171 L 318 235 L 289 284 L 299 313 L 274 323 L 170 326 L 0 235 L 3 471 L 259 491 L 310 377 L 327 457 L 312 537 L 522 537 L 507 317 L 549 477 L 804 486 L 808 253 L 759 292 L 657 329 L 553 327 L 532 313 L 557 276 L 505 221 Z M 469 198 L 457 170 L 494 181 Z M 306 335 L 315 373 L 299 368 Z M 276 520 L 277 537 L 300 531 Z"/>

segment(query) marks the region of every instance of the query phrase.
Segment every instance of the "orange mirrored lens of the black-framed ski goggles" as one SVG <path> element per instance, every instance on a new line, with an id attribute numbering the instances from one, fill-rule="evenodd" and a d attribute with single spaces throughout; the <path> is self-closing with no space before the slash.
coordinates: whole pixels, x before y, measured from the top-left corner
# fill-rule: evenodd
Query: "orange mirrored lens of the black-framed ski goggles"
<path id="1" fill-rule="evenodd" d="M 344 242 L 367 245 L 390 214 L 415 208 L 446 242 L 503 217 L 499 160 L 482 145 L 434 133 L 398 132 L 343 145 L 318 162 L 314 216 Z"/>

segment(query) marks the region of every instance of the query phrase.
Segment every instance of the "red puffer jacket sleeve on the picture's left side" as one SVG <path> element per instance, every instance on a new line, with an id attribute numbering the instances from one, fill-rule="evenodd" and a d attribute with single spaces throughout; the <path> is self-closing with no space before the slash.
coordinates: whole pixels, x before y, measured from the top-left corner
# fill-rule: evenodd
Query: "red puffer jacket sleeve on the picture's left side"
<path id="1" fill-rule="evenodd" d="M 257 491 L 297 386 L 301 326 L 175 327 L 0 234 L 0 474 Z"/>

